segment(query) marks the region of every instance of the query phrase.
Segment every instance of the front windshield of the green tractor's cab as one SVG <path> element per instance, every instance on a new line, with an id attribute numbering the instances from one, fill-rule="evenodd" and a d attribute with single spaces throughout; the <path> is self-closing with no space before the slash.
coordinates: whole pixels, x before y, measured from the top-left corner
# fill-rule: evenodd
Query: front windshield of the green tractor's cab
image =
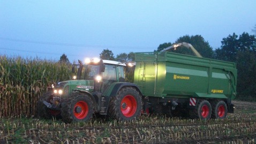
<path id="1" fill-rule="evenodd" d="M 93 80 L 99 74 L 100 65 L 83 65 L 81 79 Z"/>

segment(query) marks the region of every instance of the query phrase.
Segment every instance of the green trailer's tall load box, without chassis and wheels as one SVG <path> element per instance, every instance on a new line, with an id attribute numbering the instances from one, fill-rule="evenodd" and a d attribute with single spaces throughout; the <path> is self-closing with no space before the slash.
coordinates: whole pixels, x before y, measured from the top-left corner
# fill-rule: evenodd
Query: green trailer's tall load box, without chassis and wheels
<path id="1" fill-rule="evenodd" d="M 235 63 L 174 52 L 136 53 L 135 61 L 134 83 L 145 96 L 235 98 Z"/>

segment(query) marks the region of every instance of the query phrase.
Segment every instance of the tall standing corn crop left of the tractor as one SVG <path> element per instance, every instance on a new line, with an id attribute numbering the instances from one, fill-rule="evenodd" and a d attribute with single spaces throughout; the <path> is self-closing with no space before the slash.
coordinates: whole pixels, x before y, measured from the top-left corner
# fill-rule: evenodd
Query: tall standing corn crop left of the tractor
<path id="1" fill-rule="evenodd" d="M 70 77 L 71 65 L 0 56 L 0 118 L 35 115 L 36 101 L 47 87 Z"/>

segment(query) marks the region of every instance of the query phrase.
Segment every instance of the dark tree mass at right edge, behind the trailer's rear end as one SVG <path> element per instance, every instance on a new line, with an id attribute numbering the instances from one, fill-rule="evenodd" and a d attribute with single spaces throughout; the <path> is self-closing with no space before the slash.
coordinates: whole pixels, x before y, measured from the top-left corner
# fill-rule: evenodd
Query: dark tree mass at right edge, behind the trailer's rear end
<path id="1" fill-rule="evenodd" d="M 221 43 L 221 48 L 215 50 L 215 58 L 237 63 L 238 98 L 255 101 L 256 39 L 254 35 L 243 33 L 238 37 L 234 33 L 223 38 Z"/>

